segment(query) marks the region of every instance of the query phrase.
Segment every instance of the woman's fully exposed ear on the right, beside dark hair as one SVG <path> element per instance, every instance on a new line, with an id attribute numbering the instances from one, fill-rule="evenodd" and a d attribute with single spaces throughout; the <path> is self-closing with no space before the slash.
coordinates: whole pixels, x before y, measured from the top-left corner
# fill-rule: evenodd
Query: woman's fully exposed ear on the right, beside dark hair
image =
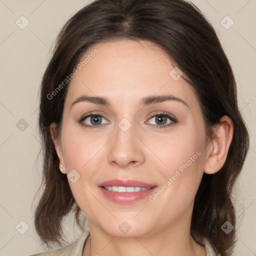
<path id="1" fill-rule="evenodd" d="M 204 172 L 213 174 L 221 169 L 226 160 L 227 152 L 233 137 L 233 122 L 227 115 L 219 119 L 214 135 L 207 147 Z"/>

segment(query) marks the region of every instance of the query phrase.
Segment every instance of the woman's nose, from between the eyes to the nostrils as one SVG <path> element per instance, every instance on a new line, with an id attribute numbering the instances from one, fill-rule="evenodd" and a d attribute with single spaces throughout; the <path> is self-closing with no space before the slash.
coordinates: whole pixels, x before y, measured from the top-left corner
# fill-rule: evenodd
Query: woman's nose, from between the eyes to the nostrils
<path id="1" fill-rule="evenodd" d="M 138 166 L 145 160 L 144 144 L 135 134 L 134 125 L 125 130 L 121 126 L 116 127 L 116 133 L 108 145 L 107 160 L 111 165 L 120 168 Z M 136 132 L 137 133 L 137 132 Z"/>

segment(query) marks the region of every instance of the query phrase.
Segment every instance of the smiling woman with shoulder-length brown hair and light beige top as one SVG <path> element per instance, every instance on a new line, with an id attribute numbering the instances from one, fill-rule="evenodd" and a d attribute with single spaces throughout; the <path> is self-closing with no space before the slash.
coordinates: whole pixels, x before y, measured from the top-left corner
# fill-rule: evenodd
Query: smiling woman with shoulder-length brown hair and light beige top
<path id="1" fill-rule="evenodd" d="M 62 245 L 71 210 L 84 231 L 51 255 L 231 254 L 248 134 L 228 59 L 193 4 L 96 0 L 74 14 L 42 79 L 39 128 L 36 231 Z"/>

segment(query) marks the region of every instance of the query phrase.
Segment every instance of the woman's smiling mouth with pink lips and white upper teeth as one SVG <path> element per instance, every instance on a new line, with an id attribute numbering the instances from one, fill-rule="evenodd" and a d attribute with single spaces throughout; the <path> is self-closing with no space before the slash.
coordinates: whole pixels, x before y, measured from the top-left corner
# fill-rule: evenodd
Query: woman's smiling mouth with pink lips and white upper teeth
<path id="1" fill-rule="evenodd" d="M 115 203 L 133 203 L 149 196 L 157 185 L 138 180 L 112 179 L 99 184 L 99 189 L 108 200 Z"/>

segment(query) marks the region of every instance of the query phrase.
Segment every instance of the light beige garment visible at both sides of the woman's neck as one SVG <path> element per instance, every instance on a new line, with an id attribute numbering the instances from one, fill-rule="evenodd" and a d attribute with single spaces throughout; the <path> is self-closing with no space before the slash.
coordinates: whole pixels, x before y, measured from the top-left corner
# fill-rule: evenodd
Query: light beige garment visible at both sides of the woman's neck
<path id="1" fill-rule="evenodd" d="M 82 250 L 83 250 L 85 241 L 89 236 L 89 233 L 90 233 L 89 230 L 86 230 L 74 242 L 64 247 L 61 247 L 59 249 L 49 251 L 49 252 L 37 253 L 30 256 L 49 256 L 49 255 L 50 256 L 82 256 Z M 205 246 L 206 256 L 217 256 L 213 247 L 211 246 L 211 244 L 206 238 L 202 239 L 202 243 Z"/>

